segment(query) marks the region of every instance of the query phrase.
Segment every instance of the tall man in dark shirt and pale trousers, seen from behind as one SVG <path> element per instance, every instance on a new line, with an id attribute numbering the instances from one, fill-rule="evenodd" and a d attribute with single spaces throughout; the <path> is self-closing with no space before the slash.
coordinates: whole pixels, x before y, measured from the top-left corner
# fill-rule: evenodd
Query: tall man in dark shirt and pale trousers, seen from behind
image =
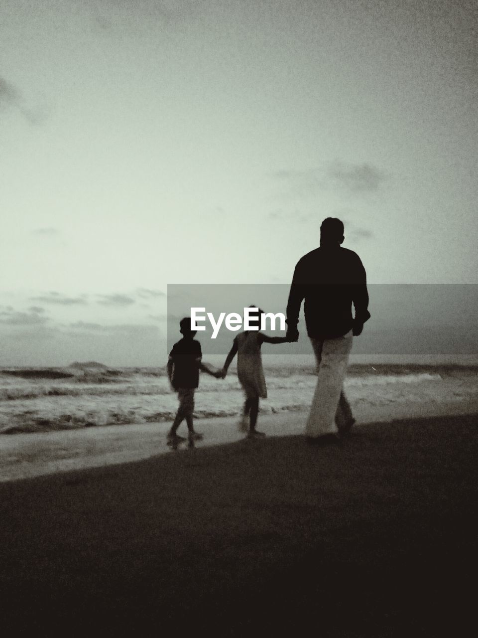
<path id="1" fill-rule="evenodd" d="M 287 302 L 287 338 L 297 341 L 305 300 L 305 325 L 317 361 L 317 385 L 305 429 L 310 443 L 337 441 L 337 434 L 342 436 L 354 424 L 342 385 L 353 335 L 361 334 L 370 313 L 365 268 L 354 251 L 341 247 L 342 242 L 342 221 L 324 219 L 320 247 L 298 261 Z"/>

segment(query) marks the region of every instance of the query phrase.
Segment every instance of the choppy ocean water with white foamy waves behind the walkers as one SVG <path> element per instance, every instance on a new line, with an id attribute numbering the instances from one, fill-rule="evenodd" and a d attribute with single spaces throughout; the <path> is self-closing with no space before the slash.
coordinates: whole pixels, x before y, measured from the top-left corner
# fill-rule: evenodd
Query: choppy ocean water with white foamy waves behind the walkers
<path id="1" fill-rule="evenodd" d="M 315 369 L 264 366 L 268 399 L 261 412 L 310 405 Z M 345 380 L 352 407 L 450 403 L 478 399 L 478 366 L 456 364 L 352 364 Z M 243 396 L 229 369 L 224 380 L 201 374 L 195 416 L 238 415 Z M 163 368 L 113 368 L 94 362 L 61 368 L 0 368 L 0 433 L 42 432 L 110 424 L 170 421 L 177 409 Z"/>

